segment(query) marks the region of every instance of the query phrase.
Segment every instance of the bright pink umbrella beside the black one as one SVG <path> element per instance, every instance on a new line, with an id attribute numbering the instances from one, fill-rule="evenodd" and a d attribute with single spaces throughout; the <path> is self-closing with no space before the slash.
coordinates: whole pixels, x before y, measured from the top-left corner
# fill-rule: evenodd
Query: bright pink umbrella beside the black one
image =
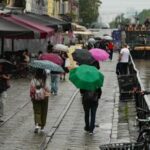
<path id="1" fill-rule="evenodd" d="M 105 61 L 109 58 L 109 54 L 103 50 L 103 49 L 99 49 L 99 48 L 92 48 L 89 51 L 93 58 L 97 61 Z"/>

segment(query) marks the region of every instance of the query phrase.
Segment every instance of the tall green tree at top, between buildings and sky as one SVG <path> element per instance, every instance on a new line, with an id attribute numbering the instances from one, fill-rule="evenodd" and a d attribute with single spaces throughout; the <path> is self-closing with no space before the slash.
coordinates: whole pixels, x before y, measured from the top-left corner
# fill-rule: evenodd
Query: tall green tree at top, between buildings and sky
<path id="1" fill-rule="evenodd" d="M 100 4 L 100 0 L 79 0 L 79 14 L 82 23 L 91 24 L 97 21 Z"/>

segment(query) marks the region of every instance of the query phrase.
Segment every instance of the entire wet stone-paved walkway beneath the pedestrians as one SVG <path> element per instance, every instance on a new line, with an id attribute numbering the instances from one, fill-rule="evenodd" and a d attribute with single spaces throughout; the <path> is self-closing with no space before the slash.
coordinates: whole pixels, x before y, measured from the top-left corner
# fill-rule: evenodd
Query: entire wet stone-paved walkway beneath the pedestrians
<path id="1" fill-rule="evenodd" d="M 119 101 L 116 63 L 117 53 L 112 61 L 101 63 L 105 81 L 97 110 L 96 124 L 99 127 L 92 136 L 83 130 L 81 97 L 68 79 L 60 81 L 58 95 L 49 98 L 47 124 L 45 131 L 39 134 L 34 133 L 30 80 L 12 80 L 5 103 L 5 122 L 0 124 L 0 150 L 98 150 L 100 144 L 134 141 L 135 116 L 129 121 L 119 118 L 120 108 L 129 106 L 129 111 L 134 111 L 134 101 Z"/>

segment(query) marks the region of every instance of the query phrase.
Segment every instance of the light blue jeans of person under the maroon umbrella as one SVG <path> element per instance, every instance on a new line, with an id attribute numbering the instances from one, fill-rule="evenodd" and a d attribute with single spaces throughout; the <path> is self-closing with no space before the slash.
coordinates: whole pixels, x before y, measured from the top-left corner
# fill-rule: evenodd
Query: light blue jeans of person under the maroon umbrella
<path id="1" fill-rule="evenodd" d="M 58 92 L 59 74 L 51 74 L 51 92 Z"/>

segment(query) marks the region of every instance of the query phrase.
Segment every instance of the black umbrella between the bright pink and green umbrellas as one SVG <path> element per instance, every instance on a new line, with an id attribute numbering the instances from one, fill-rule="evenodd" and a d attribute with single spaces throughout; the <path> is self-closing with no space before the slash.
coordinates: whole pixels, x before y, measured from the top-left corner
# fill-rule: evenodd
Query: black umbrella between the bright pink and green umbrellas
<path id="1" fill-rule="evenodd" d="M 92 57 L 91 53 L 86 49 L 76 49 L 72 53 L 72 57 L 79 64 L 90 65 L 95 61 L 94 58 Z"/>

